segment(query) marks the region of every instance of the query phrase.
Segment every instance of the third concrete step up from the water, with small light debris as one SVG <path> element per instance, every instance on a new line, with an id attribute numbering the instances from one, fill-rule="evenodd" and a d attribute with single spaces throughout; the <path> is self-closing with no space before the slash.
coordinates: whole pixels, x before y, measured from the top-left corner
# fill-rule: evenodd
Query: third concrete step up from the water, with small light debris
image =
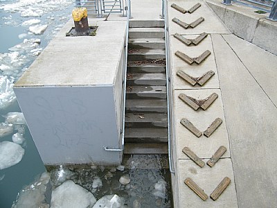
<path id="1" fill-rule="evenodd" d="M 129 122 L 147 123 L 147 122 L 167 122 L 168 121 L 168 114 L 127 113 L 125 115 L 126 115 L 125 122 L 127 122 L 127 123 L 129 123 Z"/>

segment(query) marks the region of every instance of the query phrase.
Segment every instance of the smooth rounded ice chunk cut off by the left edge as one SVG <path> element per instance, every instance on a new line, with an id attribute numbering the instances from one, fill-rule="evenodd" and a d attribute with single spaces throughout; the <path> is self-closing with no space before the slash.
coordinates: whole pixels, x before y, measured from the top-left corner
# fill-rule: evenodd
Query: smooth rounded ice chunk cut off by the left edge
<path id="1" fill-rule="evenodd" d="M 24 155 L 24 148 L 10 141 L 0 142 L 0 170 L 19 163 Z"/>

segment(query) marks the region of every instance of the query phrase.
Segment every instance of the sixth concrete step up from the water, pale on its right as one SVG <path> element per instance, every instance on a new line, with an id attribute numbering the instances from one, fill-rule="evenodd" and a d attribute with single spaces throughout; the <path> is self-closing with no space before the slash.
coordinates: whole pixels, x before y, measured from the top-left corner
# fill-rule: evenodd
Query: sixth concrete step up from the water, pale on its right
<path id="1" fill-rule="evenodd" d="M 166 85 L 165 73 L 127 73 L 128 86 L 163 86 Z"/>

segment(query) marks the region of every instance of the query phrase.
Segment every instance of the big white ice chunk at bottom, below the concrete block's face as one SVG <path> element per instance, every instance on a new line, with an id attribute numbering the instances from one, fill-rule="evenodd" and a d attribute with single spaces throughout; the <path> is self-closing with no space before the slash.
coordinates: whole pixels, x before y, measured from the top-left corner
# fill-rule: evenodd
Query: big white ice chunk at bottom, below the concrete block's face
<path id="1" fill-rule="evenodd" d="M 87 208 L 96 203 L 96 198 L 86 189 L 68 180 L 52 192 L 51 208 Z"/>

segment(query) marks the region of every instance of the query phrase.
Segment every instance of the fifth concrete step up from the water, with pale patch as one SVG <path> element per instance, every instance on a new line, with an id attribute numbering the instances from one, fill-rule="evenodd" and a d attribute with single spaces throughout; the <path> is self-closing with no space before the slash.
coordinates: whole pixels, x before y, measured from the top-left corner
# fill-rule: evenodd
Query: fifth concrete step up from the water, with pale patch
<path id="1" fill-rule="evenodd" d="M 166 99 L 166 86 L 128 86 L 127 99 Z"/>

